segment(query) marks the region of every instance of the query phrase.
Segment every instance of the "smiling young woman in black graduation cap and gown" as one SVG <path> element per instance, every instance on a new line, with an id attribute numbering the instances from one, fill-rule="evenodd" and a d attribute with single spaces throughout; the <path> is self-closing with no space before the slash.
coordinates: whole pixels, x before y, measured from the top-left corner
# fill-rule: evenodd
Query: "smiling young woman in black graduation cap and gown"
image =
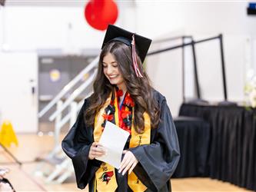
<path id="1" fill-rule="evenodd" d="M 94 94 L 62 141 L 81 189 L 89 184 L 90 192 L 171 191 L 178 138 L 165 97 L 151 87 L 142 67 L 150 44 L 148 38 L 108 26 Z M 106 121 L 130 133 L 119 169 L 95 159 L 107 153 L 98 144 Z"/>

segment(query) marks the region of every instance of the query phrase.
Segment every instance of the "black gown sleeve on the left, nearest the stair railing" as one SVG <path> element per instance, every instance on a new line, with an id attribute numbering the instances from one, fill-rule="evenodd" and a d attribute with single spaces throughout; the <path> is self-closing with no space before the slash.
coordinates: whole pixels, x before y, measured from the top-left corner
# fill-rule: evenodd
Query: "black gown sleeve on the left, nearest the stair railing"
<path id="1" fill-rule="evenodd" d="M 75 124 L 62 141 L 62 149 L 71 158 L 76 182 L 80 189 L 85 188 L 101 164 L 100 161 L 88 159 L 89 150 L 94 139 L 92 128 L 86 127 L 84 121 L 84 111 L 87 102 L 85 100 Z"/>

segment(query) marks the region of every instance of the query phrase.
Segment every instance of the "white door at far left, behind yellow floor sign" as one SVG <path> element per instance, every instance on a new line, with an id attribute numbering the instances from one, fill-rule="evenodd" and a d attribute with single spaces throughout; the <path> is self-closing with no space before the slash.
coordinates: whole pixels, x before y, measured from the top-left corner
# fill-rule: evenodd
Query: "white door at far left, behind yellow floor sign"
<path id="1" fill-rule="evenodd" d="M 16 133 L 38 131 L 37 76 L 36 53 L 0 53 L 0 123 L 11 121 Z"/>

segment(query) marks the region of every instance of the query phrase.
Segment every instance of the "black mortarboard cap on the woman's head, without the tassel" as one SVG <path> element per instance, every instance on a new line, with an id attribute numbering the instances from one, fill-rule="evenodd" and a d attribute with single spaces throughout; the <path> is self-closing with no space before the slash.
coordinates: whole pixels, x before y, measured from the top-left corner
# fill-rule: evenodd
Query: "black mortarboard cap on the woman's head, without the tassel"
<path id="1" fill-rule="evenodd" d="M 109 41 L 121 41 L 126 45 L 131 46 L 132 35 L 135 35 L 135 44 L 138 51 L 138 56 L 141 58 L 141 62 L 143 63 L 152 40 L 130 31 L 126 31 L 123 28 L 118 28 L 115 25 L 108 25 L 101 49 Z"/>

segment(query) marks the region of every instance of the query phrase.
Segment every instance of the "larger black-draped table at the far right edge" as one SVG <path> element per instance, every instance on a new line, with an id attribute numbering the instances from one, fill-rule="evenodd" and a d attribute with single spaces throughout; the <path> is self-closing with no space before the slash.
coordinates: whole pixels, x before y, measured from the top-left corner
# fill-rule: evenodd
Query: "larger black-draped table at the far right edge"
<path id="1" fill-rule="evenodd" d="M 210 124 L 208 177 L 256 190 L 255 109 L 182 104 L 179 115 Z"/>

